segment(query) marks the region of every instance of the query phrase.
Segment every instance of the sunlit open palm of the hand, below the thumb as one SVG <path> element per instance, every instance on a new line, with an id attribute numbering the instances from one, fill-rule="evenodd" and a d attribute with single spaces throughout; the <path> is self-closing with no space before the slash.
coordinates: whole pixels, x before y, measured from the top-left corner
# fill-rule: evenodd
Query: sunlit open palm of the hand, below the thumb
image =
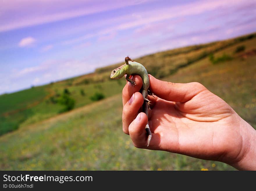
<path id="1" fill-rule="evenodd" d="M 232 138 L 237 137 L 232 129 L 234 115 L 221 98 L 206 91 L 185 103 L 156 98 L 149 113 L 149 125 L 160 137 L 163 150 L 202 159 L 228 160 L 233 156 L 223 155 L 225 143 L 231 141 L 232 147 L 241 144 Z"/>

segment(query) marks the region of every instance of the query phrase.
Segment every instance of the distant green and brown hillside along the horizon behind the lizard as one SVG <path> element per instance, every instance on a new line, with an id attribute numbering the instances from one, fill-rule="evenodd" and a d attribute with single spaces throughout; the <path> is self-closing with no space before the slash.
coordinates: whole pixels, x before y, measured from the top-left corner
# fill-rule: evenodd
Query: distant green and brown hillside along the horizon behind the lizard
<path id="1" fill-rule="evenodd" d="M 207 58 L 211 53 L 232 45 L 247 43 L 255 36 L 256 34 L 249 34 L 220 42 L 168 50 L 143 56 L 136 61 L 143 63 L 150 74 L 163 79 L 175 74 L 180 68 Z M 233 52 L 231 54 L 233 56 Z M 109 75 L 113 68 L 121 64 L 98 68 L 94 73 L 88 75 L 0 95 L 0 135 L 65 111 L 65 106 L 58 103 L 65 89 L 70 92 L 69 97 L 74 99 L 74 108 L 92 103 L 91 97 L 95 96 L 95 93 L 102 94 L 105 98 L 119 93 L 125 81 L 110 80 Z"/>

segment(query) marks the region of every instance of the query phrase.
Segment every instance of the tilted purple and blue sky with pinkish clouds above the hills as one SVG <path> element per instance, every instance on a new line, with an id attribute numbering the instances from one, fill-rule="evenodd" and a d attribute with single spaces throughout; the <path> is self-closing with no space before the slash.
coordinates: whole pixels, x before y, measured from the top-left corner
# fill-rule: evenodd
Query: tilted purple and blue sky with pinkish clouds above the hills
<path id="1" fill-rule="evenodd" d="M 0 0 L 0 94 L 252 32 L 255 0 Z"/>

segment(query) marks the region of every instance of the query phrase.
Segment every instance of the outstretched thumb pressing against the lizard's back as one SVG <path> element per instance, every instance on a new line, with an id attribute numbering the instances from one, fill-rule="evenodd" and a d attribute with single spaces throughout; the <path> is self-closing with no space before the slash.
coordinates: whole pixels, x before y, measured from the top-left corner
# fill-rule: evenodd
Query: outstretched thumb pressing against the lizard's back
<path id="1" fill-rule="evenodd" d="M 198 82 L 172 83 L 164 82 L 149 75 L 150 91 L 157 97 L 174 102 L 187 102 L 198 93 L 206 90 L 205 86 Z"/>

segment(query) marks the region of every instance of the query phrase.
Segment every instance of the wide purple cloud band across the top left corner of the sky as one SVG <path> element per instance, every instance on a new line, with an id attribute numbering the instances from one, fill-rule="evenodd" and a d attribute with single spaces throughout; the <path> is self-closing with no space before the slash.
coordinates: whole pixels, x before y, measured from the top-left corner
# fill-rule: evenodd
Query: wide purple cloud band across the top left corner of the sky
<path id="1" fill-rule="evenodd" d="M 100 13 L 141 4 L 145 1 L 112 0 L 111 3 L 103 2 L 93 0 L 2 1 L 0 32 Z"/>

